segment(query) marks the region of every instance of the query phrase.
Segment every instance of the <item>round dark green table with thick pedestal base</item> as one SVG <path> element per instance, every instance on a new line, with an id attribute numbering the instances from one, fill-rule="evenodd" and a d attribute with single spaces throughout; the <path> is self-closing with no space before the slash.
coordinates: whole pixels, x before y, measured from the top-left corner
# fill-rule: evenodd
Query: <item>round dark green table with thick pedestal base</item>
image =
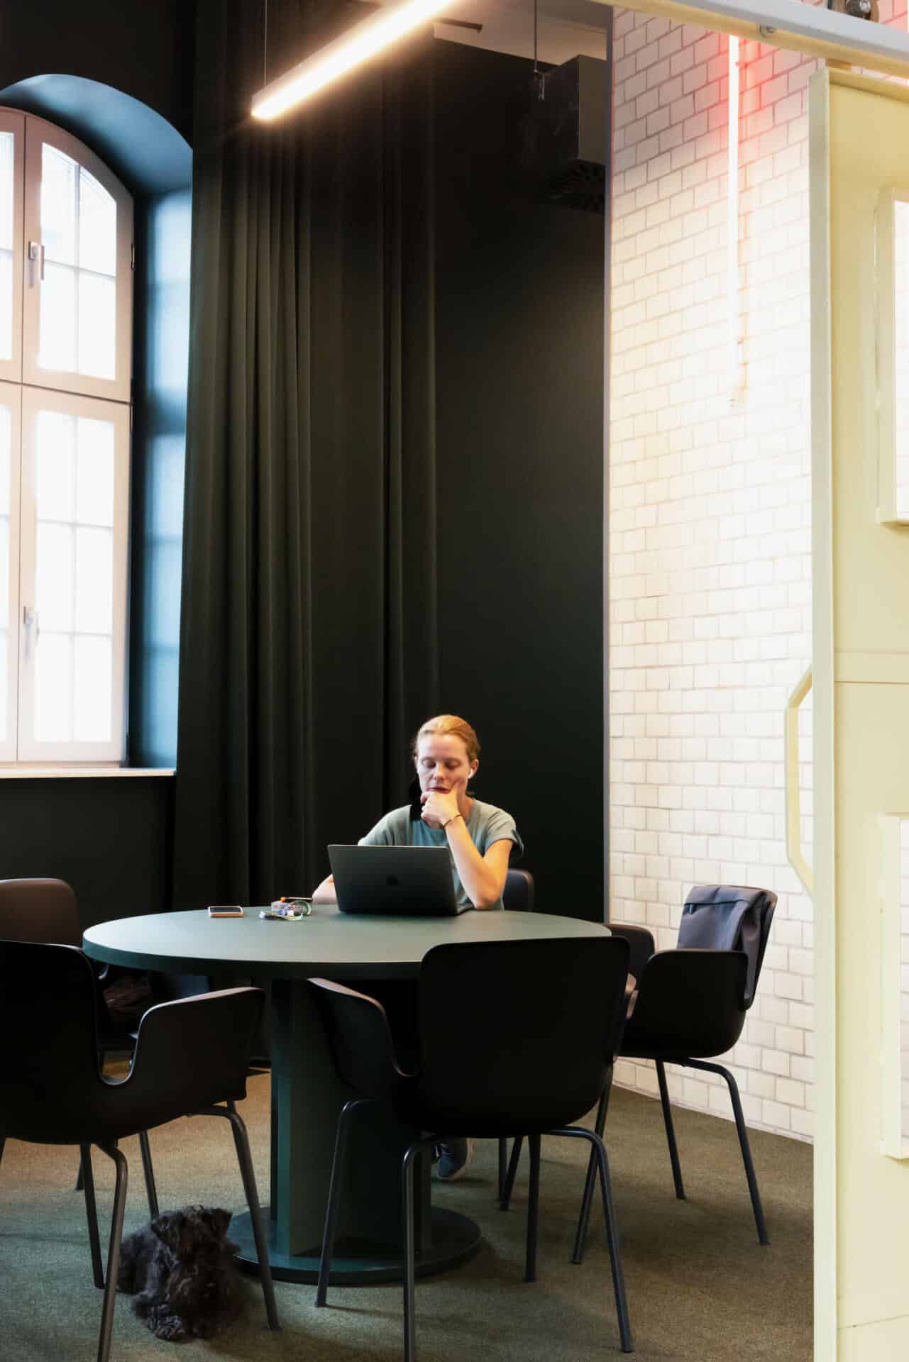
<path id="1" fill-rule="evenodd" d="M 335 1073 L 305 981 L 413 979 L 427 951 L 447 941 L 527 941 L 601 936 L 608 929 L 542 913 L 462 913 L 457 918 L 354 917 L 316 907 L 300 922 L 206 911 L 158 913 L 90 928 L 86 955 L 132 970 L 232 975 L 271 985 L 271 1268 L 282 1280 L 315 1282 L 338 1113 L 350 1096 Z M 469 1005 L 469 1000 L 465 1001 Z M 452 1024 L 457 1026 L 457 1017 Z M 388 1111 L 365 1107 L 352 1132 L 333 1283 L 401 1278 L 401 1156 L 413 1139 Z M 425 1163 L 425 1160 L 424 1160 Z M 417 1272 L 463 1263 L 480 1242 L 467 1216 L 431 1205 L 420 1170 Z M 492 1196 L 491 1196 L 492 1200 Z M 248 1216 L 230 1234 L 253 1265 Z"/>

